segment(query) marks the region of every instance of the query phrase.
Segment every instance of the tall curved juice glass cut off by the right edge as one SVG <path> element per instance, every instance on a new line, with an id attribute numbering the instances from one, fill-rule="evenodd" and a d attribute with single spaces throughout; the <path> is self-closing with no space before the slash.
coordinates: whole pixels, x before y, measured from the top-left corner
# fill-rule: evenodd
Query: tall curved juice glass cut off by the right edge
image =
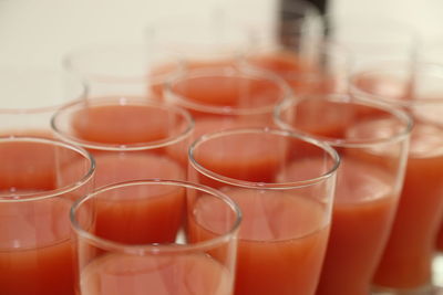
<path id="1" fill-rule="evenodd" d="M 431 263 L 443 218 L 442 85 L 443 67 L 425 63 L 418 63 L 413 75 L 391 62 L 351 78 L 358 98 L 401 107 L 414 119 L 404 188 L 373 278 L 382 289 L 431 294 L 426 293 L 431 292 Z"/>

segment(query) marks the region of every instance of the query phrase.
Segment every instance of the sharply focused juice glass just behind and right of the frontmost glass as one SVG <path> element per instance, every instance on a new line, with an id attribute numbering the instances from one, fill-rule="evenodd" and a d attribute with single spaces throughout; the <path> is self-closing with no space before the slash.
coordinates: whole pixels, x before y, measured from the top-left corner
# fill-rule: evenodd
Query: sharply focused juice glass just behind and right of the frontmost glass
<path id="1" fill-rule="evenodd" d="M 338 166 L 329 146 L 284 130 L 230 129 L 194 141 L 189 181 L 223 191 L 243 212 L 234 294 L 315 294 Z"/>

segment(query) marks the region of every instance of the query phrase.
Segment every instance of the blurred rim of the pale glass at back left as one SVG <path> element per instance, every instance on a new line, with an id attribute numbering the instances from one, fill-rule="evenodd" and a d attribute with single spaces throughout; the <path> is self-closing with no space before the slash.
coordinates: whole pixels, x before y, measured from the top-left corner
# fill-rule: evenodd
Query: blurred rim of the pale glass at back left
<path id="1" fill-rule="evenodd" d="M 106 44 L 92 44 L 89 46 L 82 46 L 74 49 L 66 53 L 63 59 L 62 59 L 62 66 L 66 69 L 69 72 L 75 73 L 76 75 L 80 75 L 84 77 L 85 80 L 93 80 L 97 83 L 123 83 L 123 84 L 138 84 L 138 83 L 146 83 L 146 78 L 153 78 L 152 84 L 155 83 L 161 83 L 165 78 L 167 78 L 172 73 L 162 73 L 162 74 L 153 74 L 148 75 L 148 71 L 141 71 L 141 73 L 136 75 L 122 75 L 120 74 L 119 71 L 115 73 L 104 73 L 104 71 L 96 70 L 94 67 L 91 69 L 82 69 L 82 66 L 78 65 L 78 62 L 81 60 L 92 60 L 91 57 L 94 56 L 95 54 L 102 54 L 102 53 L 115 53 L 120 54 L 121 51 L 130 51 L 132 53 L 145 53 L 145 56 L 150 56 L 150 46 L 145 43 L 106 43 Z M 132 59 L 132 54 L 127 54 L 126 59 Z M 166 56 L 166 55 L 165 55 Z M 173 55 L 171 54 L 171 57 Z M 167 59 L 165 60 L 167 63 L 173 62 L 176 64 L 177 70 L 179 71 L 183 67 L 182 62 L 176 59 L 173 61 L 173 59 Z M 143 63 L 140 63 L 141 65 Z M 161 61 L 158 61 L 158 64 L 162 64 Z M 148 70 L 148 67 L 143 67 L 144 70 Z M 173 71 L 175 72 L 175 71 Z"/>

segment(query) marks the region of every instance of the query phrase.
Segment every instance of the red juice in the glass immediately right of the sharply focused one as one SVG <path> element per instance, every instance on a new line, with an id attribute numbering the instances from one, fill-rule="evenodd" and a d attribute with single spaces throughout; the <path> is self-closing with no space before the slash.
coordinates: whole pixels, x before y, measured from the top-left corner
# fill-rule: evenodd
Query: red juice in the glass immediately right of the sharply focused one
<path id="1" fill-rule="evenodd" d="M 317 294 L 370 293 L 399 200 L 393 183 L 393 177 L 379 166 L 342 157 Z"/>

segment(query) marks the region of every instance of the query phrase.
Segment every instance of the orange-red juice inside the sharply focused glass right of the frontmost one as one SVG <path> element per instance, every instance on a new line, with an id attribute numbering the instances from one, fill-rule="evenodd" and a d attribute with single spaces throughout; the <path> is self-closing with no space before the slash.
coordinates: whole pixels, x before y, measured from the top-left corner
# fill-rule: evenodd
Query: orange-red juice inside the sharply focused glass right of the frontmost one
<path id="1" fill-rule="evenodd" d="M 313 294 L 329 226 L 326 206 L 284 191 L 222 188 L 244 214 L 236 270 L 236 295 Z M 207 211 L 190 223 L 193 239 L 223 230 L 223 210 Z M 223 257 L 224 255 L 218 255 Z"/>

